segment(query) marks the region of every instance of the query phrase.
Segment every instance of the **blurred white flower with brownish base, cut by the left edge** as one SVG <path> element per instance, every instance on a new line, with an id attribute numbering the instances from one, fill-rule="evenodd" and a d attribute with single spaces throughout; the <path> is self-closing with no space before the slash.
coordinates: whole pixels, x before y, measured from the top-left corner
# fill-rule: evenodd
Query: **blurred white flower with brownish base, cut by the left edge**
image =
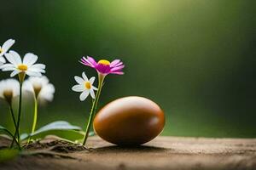
<path id="1" fill-rule="evenodd" d="M 20 83 L 12 78 L 0 81 L 0 98 L 11 103 L 15 96 L 19 95 Z"/>

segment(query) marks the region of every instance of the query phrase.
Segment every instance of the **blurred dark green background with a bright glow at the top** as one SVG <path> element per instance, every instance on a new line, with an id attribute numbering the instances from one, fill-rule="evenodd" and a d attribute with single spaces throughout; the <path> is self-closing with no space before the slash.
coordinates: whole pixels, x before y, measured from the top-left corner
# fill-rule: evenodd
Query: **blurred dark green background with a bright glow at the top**
<path id="1" fill-rule="evenodd" d="M 91 101 L 80 102 L 71 88 L 82 71 L 96 76 L 78 62 L 90 55 L 125 63 L 124 76 L 108 76 L 100 107 L 144 96 L 165 111 L 164 135 L 255 138 L 255 7 L 250 0 L 8 0 L 0 42 L 14 38 L 12 49 L 47 65 L 55 99 L 40 108 L 38 126 L 84 127 Z M 12 127 L 0 102 L 0 123 Z M 29 102 L 22 119 L 27 130 Z"/>

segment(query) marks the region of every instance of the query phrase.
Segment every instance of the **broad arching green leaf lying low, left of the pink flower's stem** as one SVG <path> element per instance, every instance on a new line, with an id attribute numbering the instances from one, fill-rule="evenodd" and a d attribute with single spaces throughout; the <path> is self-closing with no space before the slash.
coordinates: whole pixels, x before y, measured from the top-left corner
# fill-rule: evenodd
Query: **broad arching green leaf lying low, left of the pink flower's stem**
<path id="1" fill-rule="evenodd" d="M 55 135 L 62 139 L 75 141 L 84 138 L 84 132 L 81 127 L 73 126 L 69 122 L 57 121 L 51 122 L 44 127 L 39 128 L 32 134 L 23 133 L 20 138 L 24 139 L 44 139 L 45 136 Z"/>

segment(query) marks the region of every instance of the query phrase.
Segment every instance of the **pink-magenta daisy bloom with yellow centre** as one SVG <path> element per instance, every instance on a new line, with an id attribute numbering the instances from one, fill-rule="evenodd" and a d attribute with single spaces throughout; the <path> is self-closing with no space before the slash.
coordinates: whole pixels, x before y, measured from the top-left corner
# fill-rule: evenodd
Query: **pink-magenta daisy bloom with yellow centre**
<path id="1" fill-rule="evenodd" d="M 117 75 L 124 74 L 122 70 L 125 67 L 125 65 L 123 65 L 123 62 L 121 62 L 120 59 L 114 59 L 111 63 L 106 59 L 101 59 L 98 62 L 96 62 L 95 59 L 93 59 L 90 56 L 87 56 L 87 58 L 83 57 L 80 60 L 80 63 L 96 69 L 98 73 L 101 73 L 102 75 L 105 75 L 105 76 L 108 74 L 117 74 Z"/>

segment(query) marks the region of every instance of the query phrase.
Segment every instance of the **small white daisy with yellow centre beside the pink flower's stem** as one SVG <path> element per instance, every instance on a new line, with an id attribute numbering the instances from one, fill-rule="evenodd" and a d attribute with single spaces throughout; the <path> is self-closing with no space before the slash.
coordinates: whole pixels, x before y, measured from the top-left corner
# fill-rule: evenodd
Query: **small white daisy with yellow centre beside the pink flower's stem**
<path id="1" fill-rule="evenodd" d="M 82 92 L 80 94 L 80 100 L 84 101 L 90 94 L 92 99 L 95 99 L 94 90 L 97 90 L 96 87 L 92 86 L 93 82 L 95 81 L 95 77 L 91 77 L 90 80 L 86 77 L 85 73 L 82 73 L 82 77 L 74 77 L 75 81 L 79 84 L 74 85 L 72 90 L 75 92 Z"/>

